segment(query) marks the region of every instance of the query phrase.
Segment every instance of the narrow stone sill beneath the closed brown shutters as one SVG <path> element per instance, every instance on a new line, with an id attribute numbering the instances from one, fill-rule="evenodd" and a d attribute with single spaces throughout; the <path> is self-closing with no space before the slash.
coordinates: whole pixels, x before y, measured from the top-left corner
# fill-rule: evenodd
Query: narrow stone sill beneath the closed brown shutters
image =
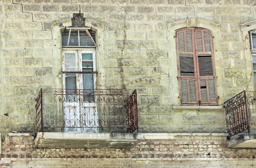
<path id="1" fill-rule="evenodd" d="M 186 110 L 196 110 L 196 111 L 224 111 L 223 105 L 218 106 L 180 106 L 180 105 L 173 105 L 174 111 L 186 111 Z"/>

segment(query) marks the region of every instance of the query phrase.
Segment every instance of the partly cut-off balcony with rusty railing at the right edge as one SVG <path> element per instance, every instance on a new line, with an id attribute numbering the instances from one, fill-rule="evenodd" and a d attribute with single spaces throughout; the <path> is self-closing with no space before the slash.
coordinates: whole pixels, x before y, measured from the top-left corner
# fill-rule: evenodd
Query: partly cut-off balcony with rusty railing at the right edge
<path id="1" fill-rule="evenodd" d="M 256 92 L 243 91 L 224 102 L 230 148 L 256 148 Z"/>

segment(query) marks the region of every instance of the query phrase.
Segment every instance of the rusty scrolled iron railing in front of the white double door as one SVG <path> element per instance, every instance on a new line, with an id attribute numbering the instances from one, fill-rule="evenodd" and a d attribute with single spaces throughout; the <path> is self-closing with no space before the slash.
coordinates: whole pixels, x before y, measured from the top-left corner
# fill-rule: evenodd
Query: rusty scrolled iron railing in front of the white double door
<path id="1" fill-rule="evenodd" d="M 138 132 L 137 93 L 128 89 L 41 89 L 37 132 Z"/>

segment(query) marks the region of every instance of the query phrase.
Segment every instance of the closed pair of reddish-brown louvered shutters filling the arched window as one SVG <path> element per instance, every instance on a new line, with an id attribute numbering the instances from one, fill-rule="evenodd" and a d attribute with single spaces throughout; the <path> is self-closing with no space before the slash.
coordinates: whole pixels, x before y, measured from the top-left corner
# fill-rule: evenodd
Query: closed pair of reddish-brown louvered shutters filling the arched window
<path id="1" fill-rule="evenodd" d="M 176 31 L 178 81 L 182 105 L 217 105 L 218 95 L 211 31 Z"/>

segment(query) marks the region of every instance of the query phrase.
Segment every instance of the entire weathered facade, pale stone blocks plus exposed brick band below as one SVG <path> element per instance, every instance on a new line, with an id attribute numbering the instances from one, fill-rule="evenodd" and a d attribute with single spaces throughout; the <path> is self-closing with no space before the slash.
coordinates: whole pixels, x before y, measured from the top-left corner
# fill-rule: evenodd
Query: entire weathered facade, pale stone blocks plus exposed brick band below
<path id="1" fill-rule="evenodd" d="M 220 144 L 177 138 L 92 151 L 36 149 L 32 136 L 10 144 L 3 134 L 35 132 L 35 99 L 40 88 L 62 88 L 61 29 L 79 12 L 97 35 L 97 87 L 137 89 L 139 133 L 225 133 L 223 102 L 254 91 L 248 34 L 256 29 L 254 5 L 249 0 L 0 0 L 0 168 L 254 167 L 256 151 L 227 148 L 225 135 Z M 185 27 L 212 32 L 219 106 L 180 106 L 175 30 Z"/>

